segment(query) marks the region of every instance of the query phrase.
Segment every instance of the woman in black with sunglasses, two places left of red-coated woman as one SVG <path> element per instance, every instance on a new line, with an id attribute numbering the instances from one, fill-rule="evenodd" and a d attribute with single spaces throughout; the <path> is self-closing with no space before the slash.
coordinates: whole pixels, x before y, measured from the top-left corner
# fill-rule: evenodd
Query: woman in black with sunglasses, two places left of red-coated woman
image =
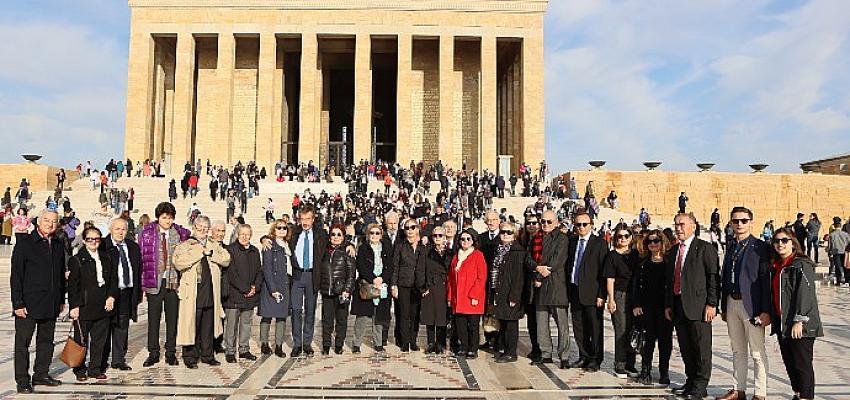
<path id="1" fill-rule="evenodd" d="M 399 304 L 400 314 L 396 323 L 401 325 L 401 351 L 419 351 L 416 337 L 419 333 L 419 310 L 422 295 L 416 288 L 417 271 L 422 271 L 424 253 L 427 250 L 419 237 L 419 224 L 415 219 L 404 221 L 404 239 L 393 250 L 393 272 L 391 288 L 394 301 Z"/>

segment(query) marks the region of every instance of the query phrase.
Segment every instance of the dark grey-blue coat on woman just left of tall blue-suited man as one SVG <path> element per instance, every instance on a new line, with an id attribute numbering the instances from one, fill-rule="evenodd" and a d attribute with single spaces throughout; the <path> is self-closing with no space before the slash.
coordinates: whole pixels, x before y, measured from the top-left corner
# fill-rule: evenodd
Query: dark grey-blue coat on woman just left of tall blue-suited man
<path id="1" fill-rule="evenodd" d="M 289 266 L 292 264 L 286 251 L 277 242 L 272 248 L 263 250 L 263 284 L 260 286 L 260 307 L 257 315 L 265 318 L 286 318 L 289 316 Z M 280 302 L 272 297 L 279 292 Z"/>

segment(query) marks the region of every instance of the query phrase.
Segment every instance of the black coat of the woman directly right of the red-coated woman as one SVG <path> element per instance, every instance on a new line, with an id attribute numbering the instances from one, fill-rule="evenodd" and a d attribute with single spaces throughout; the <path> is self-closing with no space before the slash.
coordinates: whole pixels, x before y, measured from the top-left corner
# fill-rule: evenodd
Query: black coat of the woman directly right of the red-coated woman
<path id="1" fill-rule="evenodd" d="M 499 269 L 498 286 L 493 291 L 494 315 L 498 319 L 522 319 L 524 305 L 522 303 L 526 271 L 536 265 L 531 254 L 514 242 L 505 254 L 502 267 Z M 489 279 L 489 278 L 488 278 Z M 490 300 L 487 300 L 488 302 Z M 511 307 L 510 303 L 514 303 Z"/>

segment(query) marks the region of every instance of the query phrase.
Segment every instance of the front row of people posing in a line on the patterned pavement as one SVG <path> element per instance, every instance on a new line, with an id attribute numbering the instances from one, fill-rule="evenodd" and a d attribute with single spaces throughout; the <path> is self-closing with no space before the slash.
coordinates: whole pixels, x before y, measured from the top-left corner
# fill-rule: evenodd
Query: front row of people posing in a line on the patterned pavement
<path id="1" fill-rule="evenodd" d="M 160 362 L 164 314 L 165 361 L 178 365 L 181 346 L 183 364 L 191 369 L 218 365 L 219 347 L 226 362 L 256 360 L 249 348 L 255 314 L 262 353 L 286 356 L 289 318 L 289 355 L 312 356 L 320 304 L 325 355 L 342 354 L 346 344 L 361 353 L 368 336 L 375 352 L 387 351 L 395 319 L 401 352 L 420 350 L 417 336 L 425 325 L 426 353 L 476 358 L 483 348 L 494 362 L 516 362 L 519 323 L 525 319 L 533 364 L 595 372 L 605 354 L 607 310 L 615 331 L 614 373 L 624 379 L 656 382 L 657 345 L 657 382 L 669 384 L 675 328 L 686 381 L 673 391 L 683 398 L 707 396 L 711 324 L 719 314 L 732 345 L 734 388 L 718 399 L 746 398 L 750 357 L 752 398 L 766 397 L 768 327 L 777 335 L 795 398 L 814 398 L 813 345 L 823 335 L 814 263 L 789 229 L 774 232 L 769 243 L 753 236 L 752 212 L 744 207 L 731 211 L 735 237 L 722 268 L 715 248 L 695 237 L 694 216 L 685 213 L 667 231 L 618 224 L 609 243 L 594 234 L 593 218 L 581 209 L 570 230 L 551 209 L 526 214 L 522 227 L 491 210 L 480 234 L 458 230 L 453 220 L 401 219 L 390 211 L 382 223 L 366 224 L 366 239 L 355 241 L 349 227 L 322 221 L 305 204 L 295 224 L 272 221 L 257 246 L 249 225 L 238 225 L 237 240 L 227 244 L 224 222 L 200 215 L 188 230 L 174 223 L 175 215 L 171 203 L 160 203 L 138 243 L 127 236 L 124 219 L 113 220 L 108 232 L 87 227 L 85 246 L 67 260 L 54 236 L 56 211 L 43 211 L 36 229 L 19 236 L 11 271 L 19 392 L 61 383 L 47 372 L 67 293 L 75 337 L 88 344 L 88 362 L 74 368 L 79 381 L 105 379 L 107 367 L 131 369 L 125 358 L 128 326 L 145 299 L 144 367 Z M 355 316 L 354 335 L 346 342 L 349 314 Z M 576 360 L 569 360 L 570 321 Z M 29 345 L 36 329 L 31 377 Z M 639 354 L 630 345 L 635 331 L 645 335 Z"/>

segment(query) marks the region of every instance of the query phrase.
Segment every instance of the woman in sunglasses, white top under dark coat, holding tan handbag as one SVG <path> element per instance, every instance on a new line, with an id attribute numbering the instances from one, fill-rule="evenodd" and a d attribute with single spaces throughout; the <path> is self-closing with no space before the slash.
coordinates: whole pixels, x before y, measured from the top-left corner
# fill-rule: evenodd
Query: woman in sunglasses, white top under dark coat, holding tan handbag
<path id="1" fill-rule="evenodd" d="M 354 341 L 352 351 L 360 353 L 360 343 L 366 329 L 371 326 L 372 343 L 375 351 L 381 353 L 383 347 L 384 327 L 390 326 L 390 298 L 387 284 L 393 275 L 392 244 L 389 238 L 382 239 L 384 230 L 380 224 L 369 224 L 366 227 L 367 242 L 357 249 L 357 279 L 374 285 L 380 296 L 376 299 L 363 299 L 354 296 L 351 303 L 351 314 L 354 319 Z"/>

